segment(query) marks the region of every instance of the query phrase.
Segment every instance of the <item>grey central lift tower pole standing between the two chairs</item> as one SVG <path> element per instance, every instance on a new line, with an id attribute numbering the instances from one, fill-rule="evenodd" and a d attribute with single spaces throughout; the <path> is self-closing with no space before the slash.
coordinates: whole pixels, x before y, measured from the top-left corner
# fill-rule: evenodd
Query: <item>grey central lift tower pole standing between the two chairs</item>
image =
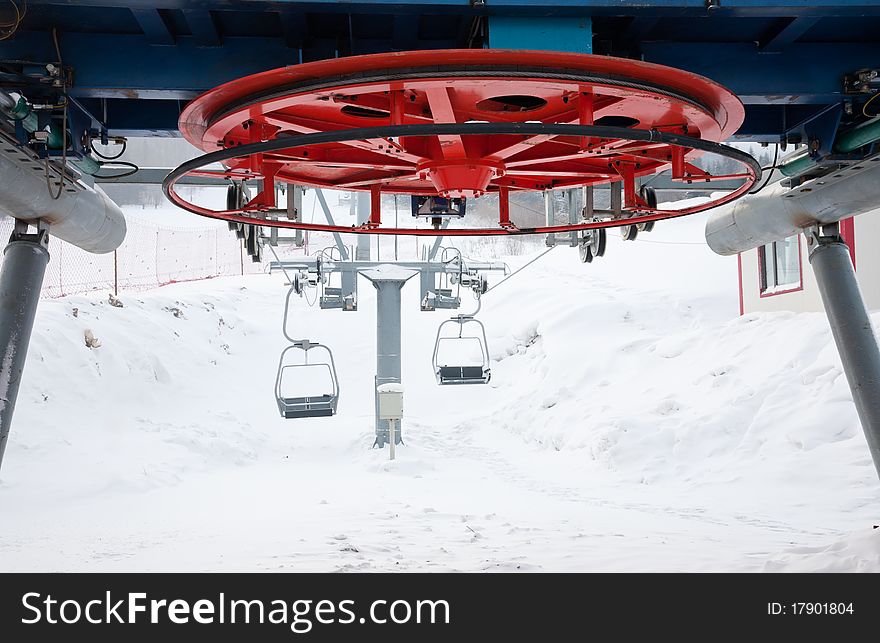
<path id="1" fill-rule="evenodd" d="M 377 291 L 376 299 L 376 381 L 373 390 L 382 384 L 400 384 L 400 294 L 415 270 L 384 264 L 361 274 L 369 279 Z M 376 442 L 380 449 L 389 441 L 388 420 L 379 419 L 379 397 L 375 394 Z M 401 443 L 402 423 L 394 432 L 395 444 Z"/>

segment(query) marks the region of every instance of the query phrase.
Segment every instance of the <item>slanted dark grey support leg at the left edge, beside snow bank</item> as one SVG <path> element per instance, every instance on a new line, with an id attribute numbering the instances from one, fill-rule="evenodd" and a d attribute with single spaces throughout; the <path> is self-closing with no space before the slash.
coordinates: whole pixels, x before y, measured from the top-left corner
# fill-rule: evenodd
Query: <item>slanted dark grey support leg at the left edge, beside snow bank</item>
<path id="1" fill-rule="evenodd" d="M 15 232 L 0 271 L 0 464 L 49 263 L 49 234 Z"/>

